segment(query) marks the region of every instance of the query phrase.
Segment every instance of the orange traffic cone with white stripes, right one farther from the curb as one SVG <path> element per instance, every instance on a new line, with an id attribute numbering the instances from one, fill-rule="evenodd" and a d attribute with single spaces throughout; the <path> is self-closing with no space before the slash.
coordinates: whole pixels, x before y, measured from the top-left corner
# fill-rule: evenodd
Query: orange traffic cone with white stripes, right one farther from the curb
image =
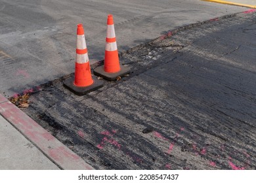
<path id="1" fill-rule="evenodd" d="M 106 80 L 116 80 L 118 76 L 123 76 L 130 73 L 130 70 L 130 67 L 119 64 L 114 20 L 112 14 L 109 14 L 107 22 L 104 65 L 96 67 L 93 73 Z"/>

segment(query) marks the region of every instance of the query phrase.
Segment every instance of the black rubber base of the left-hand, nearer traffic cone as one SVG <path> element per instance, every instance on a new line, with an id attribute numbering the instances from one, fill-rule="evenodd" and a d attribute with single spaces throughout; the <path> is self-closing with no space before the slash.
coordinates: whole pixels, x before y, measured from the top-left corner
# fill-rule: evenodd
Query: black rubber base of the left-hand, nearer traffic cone
<path id="1" fill-rule="evenodd" d="M 97 90 L 103 86 L 103 81 L 98 80 L 95 76 L 93 77 L 93 84 L 85 87 L 78 87 L 74 85 L 74 77 L 69 78 L 63 82 L 63 85 L 68 88 L 71 92 L 74 92 L 76 95 L 85 95 L 86 93 L 92 92 L 93 90 Z"/>

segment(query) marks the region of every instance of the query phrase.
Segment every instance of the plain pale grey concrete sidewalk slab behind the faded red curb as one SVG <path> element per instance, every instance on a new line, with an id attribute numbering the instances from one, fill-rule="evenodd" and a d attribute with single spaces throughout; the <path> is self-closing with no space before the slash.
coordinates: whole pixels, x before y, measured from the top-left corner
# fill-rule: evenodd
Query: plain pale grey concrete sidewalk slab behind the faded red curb
<path id="1" fill-rule="evenodd" d="M 59 169 L 3 116 L 0 116 L 0 146 L 0 169 Z"/>

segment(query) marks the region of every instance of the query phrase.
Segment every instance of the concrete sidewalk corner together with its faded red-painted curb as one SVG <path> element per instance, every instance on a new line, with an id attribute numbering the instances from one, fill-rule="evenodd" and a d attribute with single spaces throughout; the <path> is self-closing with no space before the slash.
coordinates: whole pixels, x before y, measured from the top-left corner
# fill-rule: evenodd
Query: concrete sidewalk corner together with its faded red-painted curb
<path id="1" fill-rule="evenodd" d="M 93 169 L 0 94 L 0 169 Z"/>

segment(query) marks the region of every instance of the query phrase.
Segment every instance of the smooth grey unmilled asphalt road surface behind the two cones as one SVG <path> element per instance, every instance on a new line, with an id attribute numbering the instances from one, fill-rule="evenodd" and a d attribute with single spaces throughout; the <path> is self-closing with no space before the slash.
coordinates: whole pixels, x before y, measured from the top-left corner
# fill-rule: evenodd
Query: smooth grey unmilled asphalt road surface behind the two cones
<path id="1" fill-rule="evenodd" d="M 74 73 L 76 24 L 85 27 L 93 63 L 103 58 L 108 14 L 122 52 L 176 27 L 244 10 L 198 0 L 2 0 L 0 93 L 12 96 Z"/>

